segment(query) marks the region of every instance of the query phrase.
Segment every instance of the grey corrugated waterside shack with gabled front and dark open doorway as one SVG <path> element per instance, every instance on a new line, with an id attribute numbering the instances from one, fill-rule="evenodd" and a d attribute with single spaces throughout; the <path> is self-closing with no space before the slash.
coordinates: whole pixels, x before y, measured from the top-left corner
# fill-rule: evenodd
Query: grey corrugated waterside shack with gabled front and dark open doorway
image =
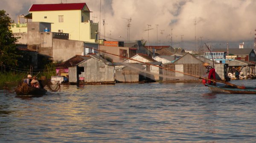
<path id="1" fill-rule="evenodd" d="M 114 84 L 114 66 L 111 62 L 96 55 L 69 67 L 70 84 Z"/>

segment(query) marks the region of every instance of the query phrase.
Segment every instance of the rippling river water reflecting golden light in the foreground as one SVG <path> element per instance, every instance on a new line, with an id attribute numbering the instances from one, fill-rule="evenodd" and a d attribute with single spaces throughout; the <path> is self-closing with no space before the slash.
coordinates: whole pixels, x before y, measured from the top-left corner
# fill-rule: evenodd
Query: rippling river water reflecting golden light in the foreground
<path id="1" fill-rule="evenodd" d="M 255 143 L 256 95 L 201 83 L 61 85 L 40 98 L 0 90 L 0 143 L 52 142 Z"/>

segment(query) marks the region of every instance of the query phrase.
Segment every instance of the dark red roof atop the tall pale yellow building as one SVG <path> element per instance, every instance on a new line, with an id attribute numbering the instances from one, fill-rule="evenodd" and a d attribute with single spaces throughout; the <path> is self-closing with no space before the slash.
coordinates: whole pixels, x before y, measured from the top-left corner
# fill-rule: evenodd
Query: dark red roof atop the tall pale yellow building
<path id="1" fill-rule="evenodd" d="M 87 7 L 86 3 L 33 4 L 29 11 L 82 10 L 84 6 Z"/>

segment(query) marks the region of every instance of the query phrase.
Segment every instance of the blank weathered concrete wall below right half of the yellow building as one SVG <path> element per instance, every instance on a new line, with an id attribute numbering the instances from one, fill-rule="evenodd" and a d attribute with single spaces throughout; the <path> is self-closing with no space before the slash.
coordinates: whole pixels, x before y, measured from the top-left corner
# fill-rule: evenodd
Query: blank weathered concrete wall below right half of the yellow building
<path id="1" fill-rule="evenodd" d="M 83 55 L 84 42 L 75 40 L 52 39 L 52 57 L 55 63 L 64 62 L 75 55 Z"/>

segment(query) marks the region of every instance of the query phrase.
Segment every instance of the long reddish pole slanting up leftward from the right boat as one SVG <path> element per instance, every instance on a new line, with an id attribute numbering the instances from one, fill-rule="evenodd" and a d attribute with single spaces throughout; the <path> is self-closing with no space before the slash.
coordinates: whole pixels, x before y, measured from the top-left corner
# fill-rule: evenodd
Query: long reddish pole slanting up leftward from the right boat
<path id="1" fill-rule="evenodd" d="M 91 47 L 87 47 L 87 46 L 84 46 L 86 48 L 91 48 Z M 102 50 L 98 50 L 98 49 L 95 49 L 95 48 L 91 48 L 93 50 L 97 50 L 97 51 L 100 51 L 102 53 L 107 53 L 107 54 L 110 54 L 110 55 L 113 55 L 113 56 L 119 56 L 119 55 L 116 55 L 116 54 L 113 54 L 113 53 L 108 53 L 108 52 L 105 52 L 105 51 L 102 51 Z M 218 80 L 218 79 L 207 79 L 207 78 L 204 78 L 204 77 L 201 77 L 201 76 L 196 76 L 196 75 L 192 75 L 192 74 L 189 74 L 189 73 L 183 73 L 183 72 L 180 72 L 180 71 L 177 71 L 177 70 L 172 70 L 172 69 L 169 69 L 169 68 L 166 68 L 166 67 L 160 67 L 158 65 L 154 65 L 154 64 L 149 64 L 149 63 L 146 63 L 146 62 L 141 62 L 141 61 L 138 61 L 136 59 L 131 59 L 131 58 L 128 58 L 128 57 L 124 57 L 124 56 L 119 56 L 119 57 L 122 57 L 122 58 L 125 58 L 125 59 L 130 59 L 130 60 L 133 60 L 133 61 L 136 61 L 136 62 L 140 62 L 140 63 L 143 63 L 143 64 L 148 64 L 148 65 L 152 65 L 152 66 L 155 66 L 155 67 L 159 67 L 159 68 L 162 68 L 162 69 L 165 69 L 165 70 L 170 70 L 170 71 L 173 71 L 173 72 L 176 72 L 176 73 L 182 73 L 184 75 L 189 75 L 189 76 L 194 76 L 194 77 L 197 77 L 199 79 L 205 79 L 205 80 L 209 80 L 209 81 L 213 81 L 213 82 L 221 82 L 221 83 L 224 83 L 224 84 L 227 84 L 227 85 L 230 85 L 232 87 L 236 87 L 236 88 L 239 88 L 239 89 L 244 89 L 245 87 L 241 87 L 241 86 L 238 86 L 236 84 L 231 84 L 229 82 L 226 82 L 226 81 L 221 81 L 221 80 Z"/>

